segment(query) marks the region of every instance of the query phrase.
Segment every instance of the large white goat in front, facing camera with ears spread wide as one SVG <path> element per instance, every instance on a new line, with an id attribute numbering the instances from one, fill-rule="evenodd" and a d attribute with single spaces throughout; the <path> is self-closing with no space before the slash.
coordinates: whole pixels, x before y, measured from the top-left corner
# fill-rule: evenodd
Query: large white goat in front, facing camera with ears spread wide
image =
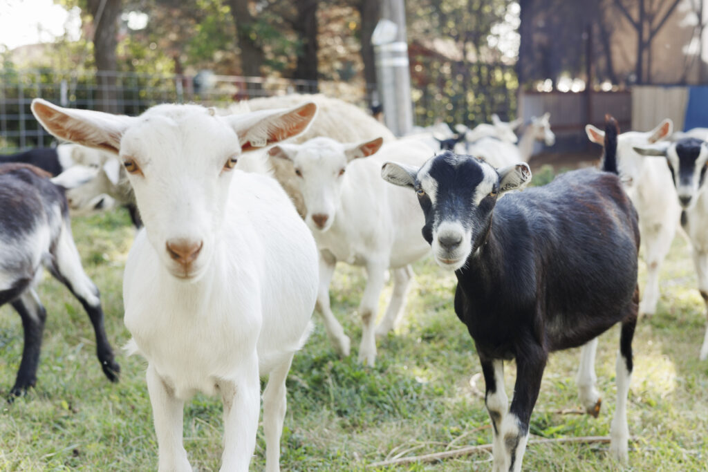
<path id="1" fill-rule="evenodd" d="M 233 170 L 242 152 L 304 131 L 313 103 L 216 116 L 158 105 L 139 117 L 32 103 L 52 134 L 118 154 L 144 221 L 125 267 L 125 326 L 148 360 L 160 471 L 191 471 L 184 401 L 224 402 L 222 471 L 247 471 L 263 392 L 266 471 L 280 470 L 285 378 L 317 293 L 312 234 L 275 180 Z"/>

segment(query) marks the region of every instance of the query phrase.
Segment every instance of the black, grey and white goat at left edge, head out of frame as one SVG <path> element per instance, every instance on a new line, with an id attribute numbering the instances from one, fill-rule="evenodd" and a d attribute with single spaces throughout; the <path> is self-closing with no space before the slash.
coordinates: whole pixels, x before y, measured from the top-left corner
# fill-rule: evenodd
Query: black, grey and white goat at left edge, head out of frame
<path id="1" fill-rule="evenodd" d="M 0 305 L 10 303 L 22 318 L 25 343 L 15 385 L 19 396 L 37 381 L 47 313 L 35 292 L 42 267 L 79 299 L 96 332 L 98 361 L 110 381 L 120 367 L 103 329 L 96 285 L 84 273 L 74 246 L 64 188 L 50 174 L 25 163 L 0 165 Z"/>

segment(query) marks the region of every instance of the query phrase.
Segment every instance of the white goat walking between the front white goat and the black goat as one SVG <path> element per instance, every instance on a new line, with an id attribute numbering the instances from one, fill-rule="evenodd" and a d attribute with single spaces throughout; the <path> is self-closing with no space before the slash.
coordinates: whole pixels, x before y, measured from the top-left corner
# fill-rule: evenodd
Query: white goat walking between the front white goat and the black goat
<path id="1" fill-rule="evenodd" d="M 317 306 L 330 338 L 343 355 L 349 354 L 350 340 L 331 311 L 329 283 L 337 261 L 366 268 L 366 288 L 359 306 L 363 322 L 359 360 L 371 366 L 376 358 L 375 334 L 384 335 L 401 317 L 413 273 L 409 264 L 430 251 L 421 236 L 423 217 L 416 211 L 416 199 L 405 189 L 387 185 L 379 173 L 387 159 L 421 165 L 434 151 L 405 140 L 381 146 L 381 138 L 341 144 L 322 137 L 304 144 L 280 144 L 268 153 L 287 163 L 299 183 L 307 209 L 305 222 L 320 250 Z M 359 159 L 374 153 L 369 159 Z M 393 294 L 375 333 L 379 297 L 389 268 Z"/>

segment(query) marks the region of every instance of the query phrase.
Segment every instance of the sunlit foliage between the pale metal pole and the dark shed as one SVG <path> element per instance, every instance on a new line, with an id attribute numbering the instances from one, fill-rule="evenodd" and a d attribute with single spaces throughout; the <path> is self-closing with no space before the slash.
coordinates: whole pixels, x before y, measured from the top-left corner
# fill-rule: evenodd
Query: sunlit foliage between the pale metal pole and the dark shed
<path id="1" fill-rule="evenodd" d="M 513 58 L 501 49 L 496 26 L 507 21 L 508 0 L 416 0 L 408 9 L 416 122 L 450 125 L 510 119 L 518 81 Z"/>

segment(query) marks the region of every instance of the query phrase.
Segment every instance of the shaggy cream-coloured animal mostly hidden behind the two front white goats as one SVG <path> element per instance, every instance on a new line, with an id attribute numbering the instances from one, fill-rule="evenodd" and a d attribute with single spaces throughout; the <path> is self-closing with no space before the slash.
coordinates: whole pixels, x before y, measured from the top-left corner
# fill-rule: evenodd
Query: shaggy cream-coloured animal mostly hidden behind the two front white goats
<path id="1" fill-rule="evenodd" d="M 256 110 L 271 110 L 273 108 L 290 108 L 302 103 L 314 102 L 317 105 L 317 115 L 312 120 L 312 125 L 297 137 L 290 140 L 292 143 L 303 143 L 314 137 L 329 137 L 338 142 L 361 142 L 365 139 L 382 137 L 384 142 L 394 141 L 396 137 L 384 124 L 366 113 L 356 105 L 347 103 L 338 98 L 331 98 L 321 94 L 317 95 L 286 95 L 265 98 L 253 98 L 235 103 L 229 107 L 230 113 L 245 113 Z M 297 177 L 292 173 L 292 168 L 285 166 L 282 161 L 272 160 L 272 169 L 263 165 L 266 157 L 263 152 L 254 152 L 246 159 L 240 159 L 236 168 L 244 171 L 259 172 L 271 171 L 278 179 L 300 216 L 304 217 L 305 207 L 302 194 L 299 192 Z"/>

